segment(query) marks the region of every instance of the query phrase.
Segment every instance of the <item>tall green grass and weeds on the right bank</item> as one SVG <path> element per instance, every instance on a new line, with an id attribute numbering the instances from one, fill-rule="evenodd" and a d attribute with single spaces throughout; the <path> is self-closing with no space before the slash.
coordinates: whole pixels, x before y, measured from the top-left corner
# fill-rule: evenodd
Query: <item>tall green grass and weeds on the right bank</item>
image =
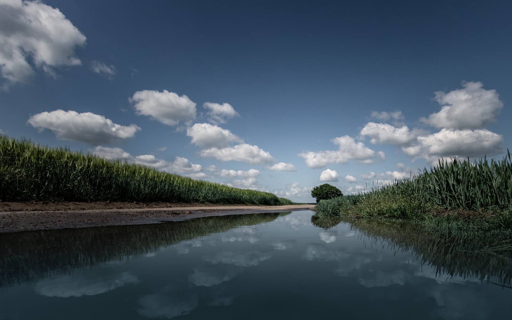
<path id="1" fill-rule="evenodd" d="M 437 209 L 509 211 L 512 209 L 512 162 L 510 152 L 501 160 L 487 158 L 438 165 L 394 184 L 342 199 L 324 200 L 317 214 L 340 212 L 364 218 L 421 219 Z"/>

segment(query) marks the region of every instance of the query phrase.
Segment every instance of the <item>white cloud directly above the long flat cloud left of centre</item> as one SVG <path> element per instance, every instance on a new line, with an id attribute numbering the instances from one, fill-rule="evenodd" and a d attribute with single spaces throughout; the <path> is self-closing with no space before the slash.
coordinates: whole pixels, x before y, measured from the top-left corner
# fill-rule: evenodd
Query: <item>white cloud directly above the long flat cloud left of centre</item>
<path id="1" fill-rule="evenodd" d="M 209 123 L 194 124 L 187 129 L 187 136 L 192 137 L 191 143 L 203 148 L 224 148 L 228 146 L 229 142 L 244 142 L 243 139 L 232 134 L 229 130 Z"/>

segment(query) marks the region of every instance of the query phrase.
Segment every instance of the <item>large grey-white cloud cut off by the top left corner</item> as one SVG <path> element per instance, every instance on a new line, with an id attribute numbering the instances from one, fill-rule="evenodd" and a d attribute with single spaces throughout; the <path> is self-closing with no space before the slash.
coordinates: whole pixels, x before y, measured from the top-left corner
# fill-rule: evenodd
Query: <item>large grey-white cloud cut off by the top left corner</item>
<path id="1" fill-rule="evenodd" d="M 4 89 L 33 77 L 29 61 L 52 76 L 55 67 L 81 65 L 75 47 L 85 43 L 86 36 L 57 8 L 39 1 L 0 3 L 0 69 L 7 80 Z"/>

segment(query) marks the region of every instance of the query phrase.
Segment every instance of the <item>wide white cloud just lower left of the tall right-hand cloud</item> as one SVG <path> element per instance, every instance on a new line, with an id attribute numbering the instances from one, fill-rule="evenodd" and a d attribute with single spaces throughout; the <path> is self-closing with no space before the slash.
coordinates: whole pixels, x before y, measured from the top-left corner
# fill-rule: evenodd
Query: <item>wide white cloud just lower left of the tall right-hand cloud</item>
<path id="1" fill-rule="evenodd" d="M 361 136 L 369 136 L 372 138 L 370 143 L 389 143 L 397 145 L 411 145 L 417 141 L 418 136 L 425 135 L 428 132 L 418 129 L 409 131 L 407 125 L 400 128 L 394 127 L 387 123 L 368 122 L 361 129 Z"/>

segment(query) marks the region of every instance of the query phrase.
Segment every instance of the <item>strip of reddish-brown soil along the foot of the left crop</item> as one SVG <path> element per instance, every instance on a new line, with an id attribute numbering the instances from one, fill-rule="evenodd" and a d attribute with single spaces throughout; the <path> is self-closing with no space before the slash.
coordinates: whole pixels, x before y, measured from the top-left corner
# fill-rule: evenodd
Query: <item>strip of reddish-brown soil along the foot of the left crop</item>
<path id="1" fill-rule="evenodd" d="M 67 210 L 100 210 L 100 209 L 152 209 L 152 208 L 185 208 L 185 207 L 219 207 L 226 204 L 183 203 L 183 202 L 69 202 L 69 201 L 2 201 L 2 211 L 67 211 Z M 232 207 L 258 206 L 256 204 L 230 204 Z"/>

